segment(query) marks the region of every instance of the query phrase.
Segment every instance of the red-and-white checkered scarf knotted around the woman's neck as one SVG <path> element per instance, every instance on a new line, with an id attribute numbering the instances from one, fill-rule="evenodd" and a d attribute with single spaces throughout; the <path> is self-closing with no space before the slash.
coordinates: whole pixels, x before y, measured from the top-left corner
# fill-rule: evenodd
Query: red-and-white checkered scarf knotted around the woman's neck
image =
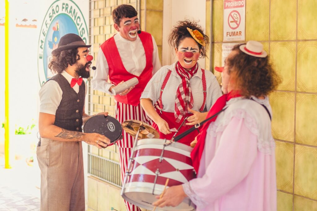
<path id="1" fill-rule="evenodd" d="M 181 77 L 182 83 L 178 85 L 176 96 L 175 96 L 175 118 L 176 122 L 179 123 L 183 121 L 185 115 L 188 113 L 188 109 L 193 107 L 193 98 L 191 96 L 191 85 L 189 80 L 191 77 L 197 73 L 198 64 L 194 65 L 191 70 L 185 70 L 179 63 L 175 65 L 175 70 L 177 74 Z M 182 91 L 181 91 L 182 90 Z"/>

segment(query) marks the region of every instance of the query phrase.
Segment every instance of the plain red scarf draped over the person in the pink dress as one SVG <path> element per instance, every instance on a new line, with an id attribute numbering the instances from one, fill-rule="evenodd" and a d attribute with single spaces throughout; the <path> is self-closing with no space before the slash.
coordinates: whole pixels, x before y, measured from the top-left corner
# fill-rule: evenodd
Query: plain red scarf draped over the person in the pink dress
<path id="1" fill-rule="evenodd" d="M 211 107 L 210 111 L 208 112 L 206 119 L 211 117 L 212 115 L 216 114 L 217 112 L 221 111 L 223 109 L 223 107 L 226 105 L 226 102 L 228 100 L 230 100 L 232 98 L 236 98 L 236 97 L 241 97 L 241 95 L 236 91 L 231 91 L 230 93 L 224 94 L 223 96 L 218 98 L 216 103 Z M 191 151 L 191 159 L 193 161 L 193 167 L 194 167 L 195 171 L 197 172 L 197 174 L 198 174 L 198 170 L 199 170 L 201 156 L 203 154 L 203 150 L 205 147 L 205 138 L 207 135 L 207 129 L 208 129 L 210 123 L 214 122 L 217 117 L 218 116 L 210 119 L 208 122 L 206 122 L 202 126 L 202 129 L 200 130 L 200 133 L 197 136 L 197 144 L 194 147 L 194 149 Z"/>

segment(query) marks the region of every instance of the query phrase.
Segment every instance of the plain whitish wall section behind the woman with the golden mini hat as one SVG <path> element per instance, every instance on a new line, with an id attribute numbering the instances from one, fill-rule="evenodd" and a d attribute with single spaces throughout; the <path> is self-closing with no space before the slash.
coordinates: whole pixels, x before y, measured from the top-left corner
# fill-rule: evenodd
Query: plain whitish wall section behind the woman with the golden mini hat
<path id="1" fill-rule="evenodd" d="M 164 0 L 163 8 L 163 57 L 162 66 L 169 65 L 175 61 L 171 46 L 168 43 L 168 36 L 177 21 L 182 20 L 199 21 L 198 24 L 206 29 L 206 1 L 205 0 Z M 205 68 L 205 59 L 199 59 L 199 64 Z"/>

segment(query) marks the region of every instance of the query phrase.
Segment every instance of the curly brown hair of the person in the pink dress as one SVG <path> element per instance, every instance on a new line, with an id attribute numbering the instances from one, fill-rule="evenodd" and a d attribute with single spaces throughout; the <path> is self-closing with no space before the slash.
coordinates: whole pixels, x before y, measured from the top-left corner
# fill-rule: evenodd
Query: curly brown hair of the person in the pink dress
<path id="1" fill-rule="evenodd" d="M 240 45 L 234 46 L 232 51 L 236 51 L 236 54 L 226 59 L 228 72 L 235 74 L 240 94 L 249 98 L 251 95 L 261 97 L 273 92 L 281 79 L 268 62 L 268 56 L 260 58 L 245 54 L 240 50 Z"/>

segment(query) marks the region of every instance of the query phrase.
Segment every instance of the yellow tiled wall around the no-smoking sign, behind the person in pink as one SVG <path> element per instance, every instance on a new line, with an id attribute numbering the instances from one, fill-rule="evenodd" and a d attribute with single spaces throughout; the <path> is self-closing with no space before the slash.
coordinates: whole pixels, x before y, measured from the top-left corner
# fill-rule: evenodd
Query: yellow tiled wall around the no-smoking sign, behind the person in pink
<path id="1" fill-rule="evenodd" d="M 206 1 L 207 23 L 211 3 L 213 69 L 222 61 L 223 0 Z M 262 42 L 283 80 L 269 96 L 278 211 L 317 210 L 316 11 L 317 0 L 246 0 L 246 42 Z"/>

